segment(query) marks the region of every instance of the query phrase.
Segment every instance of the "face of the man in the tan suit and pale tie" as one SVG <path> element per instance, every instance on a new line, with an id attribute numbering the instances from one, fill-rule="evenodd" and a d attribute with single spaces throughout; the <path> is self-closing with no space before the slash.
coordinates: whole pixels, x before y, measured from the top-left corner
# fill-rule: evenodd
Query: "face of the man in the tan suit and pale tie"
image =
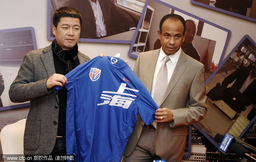
<path id="1" fill-rule="evenodd" d="M 158 30 L 158 39 L 160 40 L 163 52 L 166 55 L 174 55 L 184 42 L 184 27 L 180 20 L 166 19 L 163 22 L 162 33 Z"/>

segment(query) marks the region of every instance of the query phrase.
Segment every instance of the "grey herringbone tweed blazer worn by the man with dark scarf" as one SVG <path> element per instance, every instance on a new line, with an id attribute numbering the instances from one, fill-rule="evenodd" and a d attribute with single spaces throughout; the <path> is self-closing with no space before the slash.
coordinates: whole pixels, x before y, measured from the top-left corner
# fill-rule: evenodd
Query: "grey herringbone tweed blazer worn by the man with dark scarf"
<path id="1" fill-rule="evenodd" d="M 90 60 L 78 52 L 80 64 Z M 52 46 L 28 52 L 18 75 L 9 89 L 12 102 L 30 101 L 24 133 L 25 155 L 49 155 L 55 145 L 58 130 L 59 101 L 55 89 L 46 87 L 55 74 Z"/>

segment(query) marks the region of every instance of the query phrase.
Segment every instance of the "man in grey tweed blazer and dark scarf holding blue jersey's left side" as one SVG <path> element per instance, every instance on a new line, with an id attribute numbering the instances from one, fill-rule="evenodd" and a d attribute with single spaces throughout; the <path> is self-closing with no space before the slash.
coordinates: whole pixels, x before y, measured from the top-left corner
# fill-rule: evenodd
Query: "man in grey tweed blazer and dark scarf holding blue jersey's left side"
<path id="1" fill-rule="evenodd" d="M 76 9 L 58 9 L 53 16 L 52 26 L 56 39 L 50 46 L 25 55 L 18 75 L 9 89 L 11 101 L 30 101 L 24 133 L 26 156 L 66 154 L 65 131 L 61 137 L 57 132 L 61 132 L 60 129 L 65 130 L 67 98 L 55 94 L 54 86 L 64 85 L 67 82 L 64 76 L 67 72 L 90 60 L 77 47 L 81 23 L 81 14 Z M 62 116 L 59 114 L 61 111 Z M 62 128 L 59 127 L 60 124 Z"/>

